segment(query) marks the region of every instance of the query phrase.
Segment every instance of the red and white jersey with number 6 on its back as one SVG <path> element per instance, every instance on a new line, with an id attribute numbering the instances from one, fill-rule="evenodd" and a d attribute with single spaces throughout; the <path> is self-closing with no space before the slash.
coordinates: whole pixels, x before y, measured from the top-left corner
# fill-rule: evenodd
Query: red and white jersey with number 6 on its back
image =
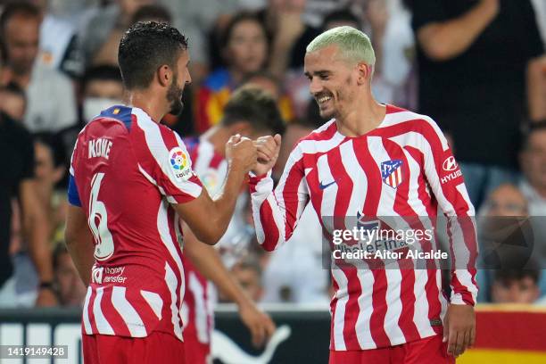
<path id="1" fill-rule="evenodd" d="M 95 237 L 85 334 L 182 340 L 182 234 L 171 203 L 202 189 L 181 138 L 141 109 L 112 106 L 79 133 L 69 201 Z"/>

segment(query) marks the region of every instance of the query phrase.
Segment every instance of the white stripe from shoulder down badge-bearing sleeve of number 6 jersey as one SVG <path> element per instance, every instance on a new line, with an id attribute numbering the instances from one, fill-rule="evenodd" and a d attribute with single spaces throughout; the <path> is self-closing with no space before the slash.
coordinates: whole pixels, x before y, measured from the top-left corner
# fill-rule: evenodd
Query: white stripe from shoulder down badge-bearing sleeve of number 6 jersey
<path id="1" fill-rule="evenodd" d="M 169 150 L 167 150 L 165 141 L 161 136 L 160 126 L 153 122 L 153 120 L 151 120 L 150 117 L 142 110 L 133 108 L 132 112 L 134 115 L 136 115 L 136 124 L 144 131 L 148 150 L 150 153 L 152 153 L 153 159 L 160 166 L 163 174 L 170 179 L 170 183 L 173 186 L 177 186 L 181 192 L 189 194 L 195 198 L 199 197 L 202 187 L 190 180 L 178 181 L 178 179 L 174 176 L 173 170 L 167 164 L 168 161 L 170 161 Z M 174 134 L 176 135 L 176 133 Z M 177 138 L 177 140 L 179 139 Z M 186 145 L 178 142 L 178 146 L 182 148 L 187 155 Z"/>

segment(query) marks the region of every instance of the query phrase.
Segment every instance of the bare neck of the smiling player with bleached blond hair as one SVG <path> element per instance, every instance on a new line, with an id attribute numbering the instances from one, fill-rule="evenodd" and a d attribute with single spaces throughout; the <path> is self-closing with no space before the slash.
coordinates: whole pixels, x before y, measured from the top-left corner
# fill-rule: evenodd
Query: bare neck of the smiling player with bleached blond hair
<path id="1" fill-rule="evenodd" d="M 371 93 L 357 97 L 351 107 L 340 112 L 335 119 L 337 129 L 343 136 L 362 136 L 377 128 L 385 119 L 385 105 L 377 103 Z"/>

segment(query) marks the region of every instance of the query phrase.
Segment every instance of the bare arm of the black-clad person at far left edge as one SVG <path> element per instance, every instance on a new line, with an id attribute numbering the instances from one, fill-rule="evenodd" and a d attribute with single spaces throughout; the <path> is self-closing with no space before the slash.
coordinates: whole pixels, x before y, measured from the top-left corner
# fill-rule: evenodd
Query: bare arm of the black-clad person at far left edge
<path id="1" fill-rule="evenodd" d="M 29 242 L 30 258 L 34 262 L 41 283 L 51 283 L 54 280 L 54 270 L 48 236 L 50 234 L 45 211 L 37 203 L 36 185 L 34 180 L 21 182 L 21 211 L 24 234 Z M 37 296 L 37 306 L 51 306 L 57 300 L 49 288 L 40 288 Z"/>

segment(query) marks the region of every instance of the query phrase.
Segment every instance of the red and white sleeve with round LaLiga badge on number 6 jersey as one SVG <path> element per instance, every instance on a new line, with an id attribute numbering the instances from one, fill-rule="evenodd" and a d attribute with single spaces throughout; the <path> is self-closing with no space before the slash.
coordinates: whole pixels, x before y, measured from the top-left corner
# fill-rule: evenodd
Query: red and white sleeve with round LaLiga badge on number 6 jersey
<path id="1" fill-rule="evenodd" d="M 189 203 L 203 190 L 186 145 L 170 128 L 146 123 L 144 142 L 134 145 L 138 170 L 170 203 Z"/>

